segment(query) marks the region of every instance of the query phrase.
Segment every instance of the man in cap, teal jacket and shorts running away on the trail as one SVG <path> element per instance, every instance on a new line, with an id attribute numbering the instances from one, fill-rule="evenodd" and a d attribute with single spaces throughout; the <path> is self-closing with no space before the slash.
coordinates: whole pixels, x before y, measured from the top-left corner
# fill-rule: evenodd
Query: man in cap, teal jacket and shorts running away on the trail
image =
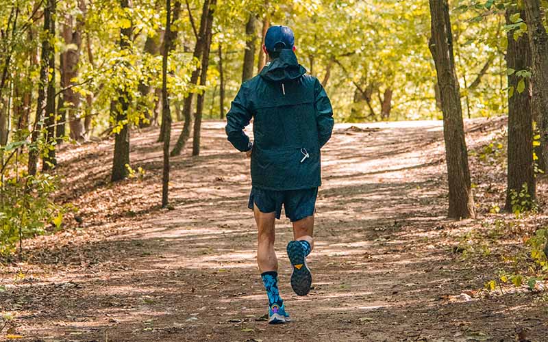
<path id="1" fill-rule="evenodd" d="M 258 228 L 257 263 L 269 298 L 269 323 L 290 321 L 277 287 L 274 224 L 284 205 L 293 225 L 287 245 L 291 287 L 307 295 L 312 274 L 306 257 L 314 248 L 314 212 L 321 185 L 320 149 L 333 130 L 333 109 L 321 83 L 306 75 L 295 56 L 295 36 L 286 26 L 266 31 L 269 63 L 240 87 L 227 114 L 229 142 L 251 157 L 251 194 Z M 253 118 L 254 142 L 243 129 Z"/>

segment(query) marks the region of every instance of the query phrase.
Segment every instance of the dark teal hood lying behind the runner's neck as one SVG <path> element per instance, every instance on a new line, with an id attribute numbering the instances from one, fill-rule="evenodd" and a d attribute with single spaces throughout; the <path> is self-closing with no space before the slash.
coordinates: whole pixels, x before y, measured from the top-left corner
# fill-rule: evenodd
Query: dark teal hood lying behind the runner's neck
<path id="1" fill-rule="evenodd" d="M 268 81 L 282 82 L 298 79 L 306 69 L 297 62 L 297 56 L 290 49 L 284 49 L 279 57 L 262 68 L 260 75 Z"/>

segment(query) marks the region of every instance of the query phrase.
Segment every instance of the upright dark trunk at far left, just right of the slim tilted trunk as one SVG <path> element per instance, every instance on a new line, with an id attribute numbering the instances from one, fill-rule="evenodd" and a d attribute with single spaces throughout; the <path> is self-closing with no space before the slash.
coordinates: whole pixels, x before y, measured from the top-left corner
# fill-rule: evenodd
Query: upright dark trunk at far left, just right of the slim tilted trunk
<path id="1" fill-rule="evenodd" d="M 49 5 L 51 9 L 51 19 L 49 21 L 49 36 L 55 37 L 55 5 L 57 0 L 49 0 Z M 42 160 L 42 171 L 50 170 L 55 168 L 57 165 L 57 160 L 55 159 L 55 141 L 57 137 L 55 136 L 55 47 L 50 42 L 49 56 L 48 56 L 48 68 L 50 70 L 50 75 L 47 83 L 47 96 L 46 96 L 46 144 L 49 148 L 47 155 Z"/>

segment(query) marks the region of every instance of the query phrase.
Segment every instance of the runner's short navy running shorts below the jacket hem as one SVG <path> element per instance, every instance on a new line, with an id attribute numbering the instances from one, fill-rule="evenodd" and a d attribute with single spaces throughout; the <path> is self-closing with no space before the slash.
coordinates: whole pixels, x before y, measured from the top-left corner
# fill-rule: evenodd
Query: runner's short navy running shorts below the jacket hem
<path id="1" fill-rule="evenodd" d="M 291 222 L 295 222 L 314 215 L 317 197 L 317 187 L 281 191 L 251 187 L 247 207 L 253 209 L 254 203 L 261 213 L 275 212 L 276 218 L 279 219 L 279 215 L 282 213 L 282 205 L 284 205 L 286 217 Z"/>

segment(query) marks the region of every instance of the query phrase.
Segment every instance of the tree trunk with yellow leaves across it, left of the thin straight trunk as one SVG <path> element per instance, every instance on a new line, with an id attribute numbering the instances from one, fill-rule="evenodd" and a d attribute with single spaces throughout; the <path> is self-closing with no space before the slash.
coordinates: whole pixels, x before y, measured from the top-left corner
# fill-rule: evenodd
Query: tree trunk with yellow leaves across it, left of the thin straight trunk
<path id="1" fill-rule="evenodd" d="M 123 9 L 129 8 L 129 0 L 120 0 Z M 123 51 L 129 47 L 133 27 L 120 29 L 120 49 Z M 127 120 L 127 109 L 129 109 L 129 93 L 127 90 L 121 90 L 117 103 L 111 105 L 112 113 L 115 117 L 115 124 Z M 123 123 L 122 129 L 114 136 L 114 159 L 112 161 L 111 180 L 121 181 L 127 176 L 127 165 L 129 165 L 129 124 Z"/>

